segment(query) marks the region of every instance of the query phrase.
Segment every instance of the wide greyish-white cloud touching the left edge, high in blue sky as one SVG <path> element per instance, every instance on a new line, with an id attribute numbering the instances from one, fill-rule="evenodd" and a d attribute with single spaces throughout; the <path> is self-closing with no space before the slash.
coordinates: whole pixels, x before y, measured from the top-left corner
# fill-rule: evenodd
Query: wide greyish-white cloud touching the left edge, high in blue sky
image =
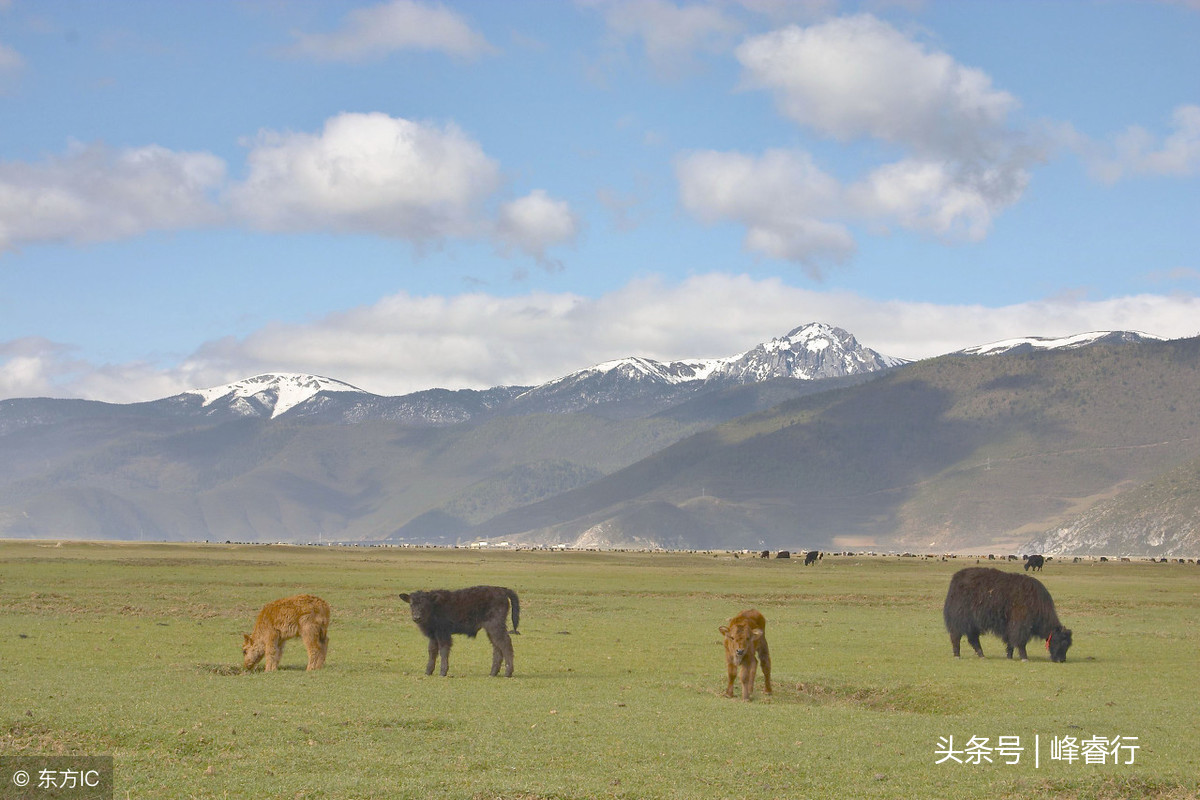
<path id="1" fill-rule="evenodd" d="M 156 145 L 73 144 L 37 164 L 0 162 L 0 252 L 214 224 L 224 173 L 216 156 Z"/>

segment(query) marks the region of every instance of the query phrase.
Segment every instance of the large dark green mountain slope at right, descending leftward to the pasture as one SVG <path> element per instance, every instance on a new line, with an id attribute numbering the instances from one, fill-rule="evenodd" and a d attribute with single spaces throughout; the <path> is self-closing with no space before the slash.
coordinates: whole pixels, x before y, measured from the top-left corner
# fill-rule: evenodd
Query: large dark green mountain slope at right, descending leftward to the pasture
<path id="1" fill-rule="evenodd" d="M 1015 552 L 1104 501 L 1134 517 L 1139 493 L 1195 492 L 1198 385 L 1200 339 L 946 356 L 732 420 L 470 535 Z M 1192 547 L 1187 505 L 1153 509 L 1121 547 Z"/>

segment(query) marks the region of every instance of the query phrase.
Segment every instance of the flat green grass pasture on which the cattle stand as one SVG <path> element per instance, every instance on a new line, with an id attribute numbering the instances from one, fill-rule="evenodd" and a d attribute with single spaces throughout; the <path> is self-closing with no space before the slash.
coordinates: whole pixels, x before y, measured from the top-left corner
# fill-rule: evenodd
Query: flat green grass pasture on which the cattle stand
<path id="1" fill-rule="evenodd" d="M 1200 796 L 1200 566 L 1052 561 L 1055 664 L 950 657 L 973 564 L 0 542 L 0 756 L 112 754 L 115 795 L 150 799 Z M 426 676 L 396 595 L 480 583 L 521 596 L 515 676 L 482 634 Z M 258 609 L 300 591 L 334 608 L 326 668 L 293 640 L 242 674 Z M 743 703 L 716 627 L 750 606 L 775 693 Z M 1024 750 L 937 764 L 949 736 Z M 1051 760 L 1064 736 L 1136 739 Z"/>

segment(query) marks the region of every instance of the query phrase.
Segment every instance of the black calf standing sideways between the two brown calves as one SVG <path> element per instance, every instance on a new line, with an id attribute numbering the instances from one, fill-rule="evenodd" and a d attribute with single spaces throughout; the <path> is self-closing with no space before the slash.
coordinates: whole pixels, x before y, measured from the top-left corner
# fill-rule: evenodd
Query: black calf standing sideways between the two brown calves
<path id="1" fill-rule="evenodd" d="M 430 639 L 430 661 L 425 664 L 425 674 L 433 674 L 433 664 L 442 655 L 442 675 L 450 668 L 451 634 L 466 633 L 475 638 L 479 628 L 487 631 L 492 643 L 492 675 L 500 672 L 500 661 L 505 663 L 504 675 L 512 676 L 512 639 L 505 626 L 509 615 L 509 603 L 512 608 L 512 632 L 517 633 L 521 620 L 521 602 L 517 593 L 503 587 L 472 587 L 469 589 L 434 589 L 433 591 L 414 591 L 400 596 L 409 604 L 413 621 L 421 633 Z"/>

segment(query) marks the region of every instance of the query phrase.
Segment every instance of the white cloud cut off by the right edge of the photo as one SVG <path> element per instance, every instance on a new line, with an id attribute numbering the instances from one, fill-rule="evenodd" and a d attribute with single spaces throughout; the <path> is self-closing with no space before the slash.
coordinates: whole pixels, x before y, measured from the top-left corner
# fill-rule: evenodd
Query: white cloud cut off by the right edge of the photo
<path id="1" fill-rule="evenodd" d="M 1130 126 L 1111 145 L 1098 145 L 1075 133 L 1070 138 L 1090 162 L 1091 174 L 1106 184 L 1135 176 L 1187 178 L 1200 174 L 1200 106 L 1180 106 L 1171 114 L 1171 132 L 1159 139 L 1141 126 Z"/>

